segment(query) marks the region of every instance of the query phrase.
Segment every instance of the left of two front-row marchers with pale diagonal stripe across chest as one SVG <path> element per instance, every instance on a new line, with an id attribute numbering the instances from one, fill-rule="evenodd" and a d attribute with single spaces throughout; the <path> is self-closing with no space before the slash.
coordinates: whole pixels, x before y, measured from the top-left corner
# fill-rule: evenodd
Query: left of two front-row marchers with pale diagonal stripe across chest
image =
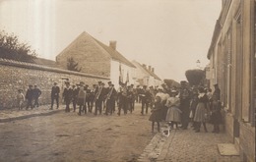
<path id="1" fill-rule="evenodd" d="M 105 95 L 105 87 L 103 82 L 98 82 L 99 86 L 96 89 L 96 111 L 95 115 L 97 115 L 97 110 L 99 111 L 99 114 L 101 115 L 102 112 L 102 103 L 103 103 L 103 97 Z"/>

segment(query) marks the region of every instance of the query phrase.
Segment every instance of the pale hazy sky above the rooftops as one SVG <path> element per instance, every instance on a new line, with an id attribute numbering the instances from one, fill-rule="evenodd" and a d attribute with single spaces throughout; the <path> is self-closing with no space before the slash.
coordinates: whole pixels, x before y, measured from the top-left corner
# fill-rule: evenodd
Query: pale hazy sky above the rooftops
<path id="1" fill-rule="evenodd" d="M 86 31 L 106 45 L 116 40 L 123 56 L 160 79 L 183 81 L 209 64 L 221 8 L 222 0 L 0 0 L 0 30 L 50 60 Z"/>

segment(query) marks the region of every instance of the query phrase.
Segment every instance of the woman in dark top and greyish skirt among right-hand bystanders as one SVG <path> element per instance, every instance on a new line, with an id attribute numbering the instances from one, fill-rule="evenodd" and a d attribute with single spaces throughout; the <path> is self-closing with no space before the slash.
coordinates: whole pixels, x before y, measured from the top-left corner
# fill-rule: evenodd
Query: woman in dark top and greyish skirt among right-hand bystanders
<path id="1" fill-rule="evenodd" d="M 205 132 L 207 133 L 206 114 L 208 112 L 207 108 L 208 108 L 209 99 L 208 99 L 203 87 L 199 87 L 198 91 L 199 91 L 198 104 L 197 104 L 195 117 L 194 117 L 195 129 L 196 129 L 196 133 L 199 133 L 201 124 L 203 123 Z"/>

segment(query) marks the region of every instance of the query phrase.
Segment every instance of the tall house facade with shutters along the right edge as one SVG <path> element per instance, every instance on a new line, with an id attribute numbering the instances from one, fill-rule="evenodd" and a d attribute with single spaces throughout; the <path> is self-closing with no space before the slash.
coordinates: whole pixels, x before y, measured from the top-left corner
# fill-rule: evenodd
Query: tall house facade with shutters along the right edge
<path id="1" fill-rule="evenodd" d="M 208 52 L 209 80 L 219 83 L 224 127 L 242 161 L 255 161 L 255 0 L 223 0 Z"/>

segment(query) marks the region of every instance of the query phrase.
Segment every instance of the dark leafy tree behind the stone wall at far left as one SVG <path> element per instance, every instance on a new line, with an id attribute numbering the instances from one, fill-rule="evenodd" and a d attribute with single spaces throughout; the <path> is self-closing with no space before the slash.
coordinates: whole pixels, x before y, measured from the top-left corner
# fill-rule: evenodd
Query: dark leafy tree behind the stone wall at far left
<path id="1" fill-rule="evenodd" d="M 36 53 L 27 43 L 19 42 L 18 36 L 0 31 L 0 58 L 33 63 Z"/>

